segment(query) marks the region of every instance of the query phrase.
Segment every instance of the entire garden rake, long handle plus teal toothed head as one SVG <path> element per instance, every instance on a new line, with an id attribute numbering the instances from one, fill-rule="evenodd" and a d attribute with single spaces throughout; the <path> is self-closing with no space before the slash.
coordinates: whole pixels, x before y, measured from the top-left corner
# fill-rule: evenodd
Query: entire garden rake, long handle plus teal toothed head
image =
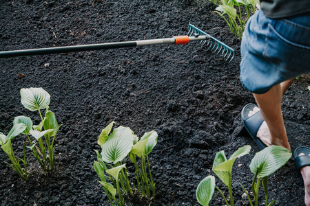
<path id="1" fill-rule="evenodd" d="M 149 40 L 140 40 L 140 41 L 124 41 L 116 43 L 101 43 L 101 44 L 92 44 L 92 45 L 76 45 L 68 47 L 48 47 L 41 49 L 23 49 L 23 50 L 13 50 L 13 51 L 4 51 L 0 52 L 0 58 L 10 58 L 18 56 L 33 56 L 33 55 L 43 55 L 43 54 L 58 54 L 58 53 L 69 53 L 69 52 L 82 52 L 90 50 L 99 50 L 99 49 L 112 49 L 112 48 L 121 48 L 121 47 L 137 47 L 144 45 L 159 45 L 159 44 L 175 44 L 183 45 L 187 44 L 190 41 L 200 41 L 205 45 L 207 43 L 208 49 L 211 49 L 211 52 L 217 52 L 223 50 L 222 55 L 227 61 L 231 54 L 231 60 L 234 58 L 234 49 L 225 45 L 218 39 L 210 36 L 206 32 L 198 29 L 192 24 L 189 24 L 189 32 L 184 36 L 173 36 L 172 38 L 158 38 L 158 39 L 149 39 Z M 228 56 L 227 56 L 228 55 Z"/>

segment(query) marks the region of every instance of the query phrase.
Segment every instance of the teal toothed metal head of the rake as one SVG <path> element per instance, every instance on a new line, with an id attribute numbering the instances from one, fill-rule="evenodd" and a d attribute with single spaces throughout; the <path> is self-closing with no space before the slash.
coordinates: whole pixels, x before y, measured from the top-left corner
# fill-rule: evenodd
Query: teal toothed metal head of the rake
<path id="1" fill-rule="evenodd" d="M 225 61 L 233 60 L 235 56 L 235 51 L 231 47 L 225 45 L 225 43 L 218 41 L 218 39 L 214 38 L 213 36 L 207 34 L 206 32 L 203 32 L 203 30 L 198 29 L 194 25 L 189 23 L 189 32 L 187 33 L 187 36 L 197 36 L 197 35 L 205 35 L 207 36 L 207 40 L 200 41 L 200 44 L 202 43 L 203 45 L 207 44 L 208 49 L 211 49 L 211 52 L 214 54 L 217 52 L 217 54 L 220 54 L 222 52 L 222 55 L 225 58 Z"/>

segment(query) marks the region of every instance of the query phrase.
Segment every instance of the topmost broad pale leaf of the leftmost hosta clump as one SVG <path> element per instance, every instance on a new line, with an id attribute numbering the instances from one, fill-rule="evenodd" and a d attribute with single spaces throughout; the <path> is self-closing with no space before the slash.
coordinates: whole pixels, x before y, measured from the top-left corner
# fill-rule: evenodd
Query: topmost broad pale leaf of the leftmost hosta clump
<path id="1" fill-rule="evenodd" d="M 50 94 L 44 89 L 21 89 L 21 104 L 30 111 L 47 108 L 50 104 Z"/>

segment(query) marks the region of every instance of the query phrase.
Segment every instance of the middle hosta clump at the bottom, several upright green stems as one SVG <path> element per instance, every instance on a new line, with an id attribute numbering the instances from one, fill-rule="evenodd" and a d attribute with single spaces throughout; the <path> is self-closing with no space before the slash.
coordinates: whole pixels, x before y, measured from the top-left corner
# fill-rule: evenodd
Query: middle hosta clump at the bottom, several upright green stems
<path id="1" fill-rule="evenodd" d="M 155 198 L 156 188 L 152 179 L 148 155 L 157 144 L 157 133 L 151 131 L 138 139 L 130 128 L 119 126 L 110 134 L 113 124 L 114 122 L 110 123 L 101 131 L 98 144 L 102 151 L 99 153 L 95 150 L 97 161 L 94 162 L 94 170 L 101 179 L 99 183 L 103 185 L 103 190 L 111 205 L 124 205 L 124 196 L 134 192 L 150 197 L 150 187 L 152 197 Z M 130 185 L 125 157 L 129 157 L 130 161 L 134 163 L 136 184 L 133 183 L 133 188 Z M 140 159 L 140 164 L 136 157 Z"/>

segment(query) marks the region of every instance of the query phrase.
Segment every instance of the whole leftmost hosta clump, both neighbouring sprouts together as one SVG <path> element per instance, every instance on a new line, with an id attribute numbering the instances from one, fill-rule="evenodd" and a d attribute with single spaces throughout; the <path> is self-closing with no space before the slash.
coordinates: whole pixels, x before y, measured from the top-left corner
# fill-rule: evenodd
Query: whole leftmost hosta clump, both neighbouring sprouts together
<path id="1" fill-rule="evenodd" d="M 30 117 L 18 116 L 14 118 L 13 127 L 8 135 L 0 133 L 1 148 L 8 155 L 12 162 L 9 164 L 21 176 L 22 179 L 28 180 L 27 162 L 25 158 L 25 147 L 32 150 L 32 155 L 37 159 L 39 164 L 45 170 L 54 169 L 54 140 L 60 126 L 56 117 L 49 110 L 50 94 L 42 88 L 21 89 L 21 104 L 30 111 L 38 111 L 41 122 L 39 125 L 33 125 Z M 45 116 L 41 114 L 41 109 L 45 109 Z M 23 143 L 23 162 L 24 168 L 21 169 L 19 160 L 14 157 L 11 141 L 17 135 L 22 134 L 28 138 L 30 146 Z M 34 142 L 30 139 L 33 137 Z M 43 139 L 44 138 L 44 139 Z M 37 146 L 39 143 L 39 146 Z"/>

